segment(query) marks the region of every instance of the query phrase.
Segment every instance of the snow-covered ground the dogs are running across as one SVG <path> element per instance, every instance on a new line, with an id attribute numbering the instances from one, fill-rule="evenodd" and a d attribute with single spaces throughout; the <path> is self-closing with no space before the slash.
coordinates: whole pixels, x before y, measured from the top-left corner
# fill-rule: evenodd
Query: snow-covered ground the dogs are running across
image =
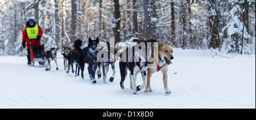
<path id="1" fill-rule="evenodd" d="M 233 59 L 212 56 L 209 51 L 174 49 L 168 71 L 168 87 L 162 73 L 152 76 L 151 93 L 133 95 L 129 77 L 125 90 L 119 87 L 119 66 L 114 82 L 96 85 L 65 73 L 58 53 L 59 71 L 45 71 L 38 63 L 26 65 L 26 57 L 0 56 L 0 108 L 254 108 L 255 55 Z M 174 74 L 177 73 L 177 74 Z M 108 78 L 112 75 L 110 69 Z M 138 75 L 137 85 L 142 84 Z"/>

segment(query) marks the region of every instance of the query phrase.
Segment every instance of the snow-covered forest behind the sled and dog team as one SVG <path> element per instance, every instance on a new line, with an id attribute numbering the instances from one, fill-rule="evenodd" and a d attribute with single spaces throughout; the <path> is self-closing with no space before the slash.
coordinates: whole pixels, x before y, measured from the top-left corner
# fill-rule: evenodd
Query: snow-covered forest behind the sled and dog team
<path id="1" fill-rule="evenodd" d="M 26 55 L 22 32 L 34 18 L 46 49 L 131 38 L 176 48 L 255 54 L 255 0 L 0 0 L 0 56 Z"/>

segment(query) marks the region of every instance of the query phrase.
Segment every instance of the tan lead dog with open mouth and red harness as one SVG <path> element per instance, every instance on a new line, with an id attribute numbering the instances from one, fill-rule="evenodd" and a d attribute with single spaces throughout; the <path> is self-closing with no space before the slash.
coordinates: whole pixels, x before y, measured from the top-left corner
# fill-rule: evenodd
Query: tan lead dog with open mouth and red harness
<path id="1" fill-rule="evenodd" d="M 168 65 L 172 64 L 171 60 L 174 59 L 172 56 L 173 53 L 173 44 L 169 43 L 159 43 L 158 44 L 158 60 L 154 59 L 156 63 L 156 67 L 150 67 L 147 69 L 147 86 L 144 92 L 148 93 L 151 92 L 152 89 L 150 87 L 150 78 L 155 72 L 162 71 L 163 73 L 163 83 L 164 83 L 164 90 L 166 94 L 171 94 L 171 91 L 168 89 L 167 81 L 168 81 Z"/>

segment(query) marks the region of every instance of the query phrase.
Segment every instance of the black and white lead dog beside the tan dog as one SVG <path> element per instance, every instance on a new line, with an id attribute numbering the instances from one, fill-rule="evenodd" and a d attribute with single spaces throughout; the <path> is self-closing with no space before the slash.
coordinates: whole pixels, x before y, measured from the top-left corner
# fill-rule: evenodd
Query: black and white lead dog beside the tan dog
<path id="1" fill-rule="evenodd" d="M 137 91 L 146 87 L 146 71 L 148 68 L 148 60 L 150 58 L 151 52 L 153 51 L 153 43 L 156 40 L 138 40 L 134 39 L 134 42 L 145 43 L 142 46 L 135 45 L 133 48 L 127 48 L 120 55 L 119 68 L 121 73 L 121 82 L 120 86 L 122 89 L 125 89 L 123 82 L 127 76 L 127 69 L 130 71 L 130 88 L 133 90 L 133 94 L 137 94 Z M 148 45 L 147 43 L 151 43 Z M 130 53 L 132 51 L 132 53 Z M 143 53 L 143 51 L 145 53 Z M 141 73 L 143 84 L 136 86 L 136 79 L 138 73 Z"/>

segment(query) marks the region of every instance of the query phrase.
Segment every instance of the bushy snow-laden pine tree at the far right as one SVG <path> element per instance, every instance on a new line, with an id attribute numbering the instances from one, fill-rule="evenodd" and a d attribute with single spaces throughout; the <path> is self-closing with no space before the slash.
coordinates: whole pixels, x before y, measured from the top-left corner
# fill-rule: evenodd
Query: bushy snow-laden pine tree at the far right
<path id="1" fill-rule="evenodd" d="M 241 18 L 245 19 L 244 9 L 240 6 L 244 5 L 245 1 L 231 1 L 230 6 L 233 6 L 229 11 L 229 23 L 224 27 L 222 31 L 228 31 L 228 38 L 225 38 L 225 44 L 222 48 L 223 51 L 228 51 L 228 53 L 254 53 L 255 48 L 251 42 L 251 36 L 248 34 L 245 24 L 242 22 Z"/>

